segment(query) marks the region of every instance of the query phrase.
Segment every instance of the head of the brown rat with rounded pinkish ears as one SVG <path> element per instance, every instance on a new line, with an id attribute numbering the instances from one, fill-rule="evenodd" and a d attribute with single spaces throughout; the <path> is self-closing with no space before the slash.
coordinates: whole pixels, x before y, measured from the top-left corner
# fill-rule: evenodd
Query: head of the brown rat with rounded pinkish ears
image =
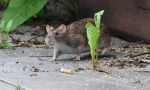
<path id="1" fill-rule="evenodd" d="M 54 43 L 54 40 L 62 39 L 66 36 L 66 25 L 62 24 L 56 29 L 47 25 L 46 31 L 47 36 L 45 38 L 45 42 L 51 44 Z"/>

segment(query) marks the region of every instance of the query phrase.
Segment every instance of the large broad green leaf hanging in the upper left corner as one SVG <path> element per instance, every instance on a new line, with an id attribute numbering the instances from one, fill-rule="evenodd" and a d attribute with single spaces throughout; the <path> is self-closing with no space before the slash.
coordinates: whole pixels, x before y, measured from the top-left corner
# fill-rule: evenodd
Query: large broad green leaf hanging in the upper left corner
<path id="1" fill-rule="evenodd" d="M 14 30 L 31 16 L 38 13 L 47 0 L 10 0 L 7 9 L 4 11 L 1 28 L 8 31 Z"/>

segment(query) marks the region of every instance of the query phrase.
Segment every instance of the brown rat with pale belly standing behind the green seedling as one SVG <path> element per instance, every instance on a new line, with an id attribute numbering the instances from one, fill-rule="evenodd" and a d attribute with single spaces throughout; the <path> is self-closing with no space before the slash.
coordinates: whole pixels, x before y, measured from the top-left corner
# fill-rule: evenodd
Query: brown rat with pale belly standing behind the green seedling
<path id="1" fill-rule="evenodd" d="M 58 28 L 47 25 L 47 36 L 45 42 L 47 45 L 54 44 L 53 57 L 50 61 L 55 61 L 62 54 L 76 54 L 76 60 L 90 54 L 87 33 L 85 25 L 87 22 L 94 22 L 93 18 L 81 19 L 69 25 L 61 24 Z M 103 48 L 102 54 L 108 51 L 110 45 L 110 35 L 104 24 L 101 28 L 101 38 L 99 46 Z"/>

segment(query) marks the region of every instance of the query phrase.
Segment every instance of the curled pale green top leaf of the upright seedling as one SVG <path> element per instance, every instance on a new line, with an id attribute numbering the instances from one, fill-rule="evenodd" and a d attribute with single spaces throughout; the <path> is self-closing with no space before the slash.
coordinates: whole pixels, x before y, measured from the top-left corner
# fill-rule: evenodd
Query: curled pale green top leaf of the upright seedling
<path id="1" fill-rule="evenodd" d="M 100 20 L 101 20 L 101 16 L 103 15 L 103 13 L 104 13 L 104 10 L 101 10 L 101 11 L 95 13 L 95 15 L 94 15 L 95 25 L 98 28 L 100 27 Z"/>

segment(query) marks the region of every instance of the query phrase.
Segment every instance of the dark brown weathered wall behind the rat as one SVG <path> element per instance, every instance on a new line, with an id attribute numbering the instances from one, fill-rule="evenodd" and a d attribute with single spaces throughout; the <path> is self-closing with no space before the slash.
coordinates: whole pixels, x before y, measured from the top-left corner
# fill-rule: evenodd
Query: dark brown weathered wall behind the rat
<path id="1" fill-rule="evenodd" d="M 132 41 L 150 41 L 150 0 L 142 3 L 139 0 L 81 0 L 80 6 L 84 17 L 104 9 L 103 21 L 113 35 Z"/>

